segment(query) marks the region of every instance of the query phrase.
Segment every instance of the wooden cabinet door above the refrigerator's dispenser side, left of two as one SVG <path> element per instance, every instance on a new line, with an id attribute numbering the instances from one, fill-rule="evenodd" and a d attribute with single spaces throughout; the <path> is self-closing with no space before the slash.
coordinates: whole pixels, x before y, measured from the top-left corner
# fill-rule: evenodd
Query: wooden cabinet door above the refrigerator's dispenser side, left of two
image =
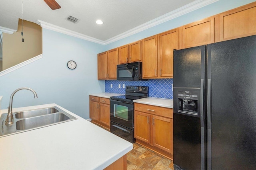
<path id="1" fill-rule="evenodd" d="M 182 48 L 214 43 L 214 17 L 182 26 Z"/>

